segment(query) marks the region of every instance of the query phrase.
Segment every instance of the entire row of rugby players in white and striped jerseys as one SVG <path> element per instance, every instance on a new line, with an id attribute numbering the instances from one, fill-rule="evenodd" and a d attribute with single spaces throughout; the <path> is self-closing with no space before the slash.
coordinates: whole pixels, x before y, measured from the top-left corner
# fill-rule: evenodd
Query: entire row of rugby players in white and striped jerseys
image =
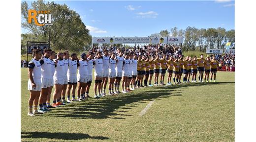
<path id="1" fill-rule="evenodd" d="M 174 85 L 182 83 L 182 74 L 184 74 L 183 83 L 190 82 L 190 78 L 192 82 L 196 82 L 197 72 L 199 72 L 198 82 L 208 82 L 210 72 L 212 72 L 210 81 L 214 76 L 215 82 L 219 66 L 215 56 L 212 59 L 209 56 L 205 59 L 203 55 L 200 55 L 200 58 L 187 56 L 184 59 L 183 55 L 146 56 L 137 55 L 134 52 L 124 53 L 121 49 L 117 49 L 117 53 L 109 53 L 107 49 L 104 49 L 103 53 L 89 51 L 87 54 L 82 53 L 80 60 L 76 53 L 69 55 L 68 51 L 64 51 L 58 52 L 56 56 L 56 52 L 48 48 L 44 49 L 43 56 L 39 49 L 34 49 L 33 55 L 34 57 L 28 64 L 28 90 L 30 91 L 28 116 L 43 114 L 51 111 L 49 108 L 90 98 L 89 90 L 93 80 L 93 69 L 94 97 L 100 98 L 121 92 L 128 93 L 141 87 L 152 87 L 153 76 L 154 85 L 163 86 L 166 71 L 168 73 L 166 85 L 172 85 L 172 79 Z M 106 94 L 108 82 L 109 91 Z M 119 91 L 120 85 L 122 86 L 121 92 Z M 55 90 L 53 102 L 50 105 L 53 86 Z M 67 100 L 65 100 L 65 94 L 67 94 Z M 39 109 L 37 109 L 38 103 Z"/>

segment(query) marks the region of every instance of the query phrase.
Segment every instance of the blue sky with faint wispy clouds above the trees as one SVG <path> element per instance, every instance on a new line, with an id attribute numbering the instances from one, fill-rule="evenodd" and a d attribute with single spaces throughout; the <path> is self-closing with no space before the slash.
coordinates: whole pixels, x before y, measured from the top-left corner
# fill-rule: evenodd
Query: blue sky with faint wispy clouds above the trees
<path id="1" fill-rule="evenodd" d="M 234 29 L 234 1 L 55 1 L 82 17 L 95 37 L 149 36 L 176 26 Z M 31 3 L 28 1 L 28 3 Z M 22 28 L 22 33 L 27 30 Z"/>

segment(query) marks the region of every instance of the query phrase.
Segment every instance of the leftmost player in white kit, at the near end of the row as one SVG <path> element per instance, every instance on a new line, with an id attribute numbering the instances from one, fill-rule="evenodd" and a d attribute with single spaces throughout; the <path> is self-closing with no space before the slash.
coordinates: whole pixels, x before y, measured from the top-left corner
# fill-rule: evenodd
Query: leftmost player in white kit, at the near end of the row
<path id="1" fill-rule="evenodd" d="M 39 59 L 42 56 L 42 52 L 39 49 L 33 49 L 34 57 L 29 62 L 29 81 L 28 90 L 30 91 L 29 99 L 29 113 L 28 116 L 34 117 L 37 112 L 38 98 L 41 92 L 41 64 Z M 34 113 L 32 112 L 32 105 L 34 103 Z"/>

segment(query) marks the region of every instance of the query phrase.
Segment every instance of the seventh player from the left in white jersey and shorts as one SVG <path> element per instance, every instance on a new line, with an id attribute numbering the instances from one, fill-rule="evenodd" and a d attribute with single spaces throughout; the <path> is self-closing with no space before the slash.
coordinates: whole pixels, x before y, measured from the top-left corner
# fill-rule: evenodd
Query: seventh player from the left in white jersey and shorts
<path id="1" fill-rule="evenodd" d="M 78 67 L 78 74 L 77 74 L 77 80 L 78 80 L 78 89 L 77 89 L 77 99 L 79 101 L 88 99 L 85 97 L 85 90 L 87 87 L 88 82 L 88 62 L 87 62 L 87 55 L 85 53 L 81 54 L 81 59 L 79 60 L 80 66 Z M 72 100 L 75 100 L 73 98 Z"/>

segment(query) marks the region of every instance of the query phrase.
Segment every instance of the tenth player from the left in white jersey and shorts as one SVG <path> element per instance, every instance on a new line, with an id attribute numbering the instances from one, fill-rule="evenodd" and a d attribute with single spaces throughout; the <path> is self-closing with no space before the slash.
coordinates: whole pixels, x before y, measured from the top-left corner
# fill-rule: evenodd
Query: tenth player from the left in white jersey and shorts
<path id="1" fill-rule="evenodd" d="M 104 55 L 102 56 L 103 60 L 103 78 L 101 83 L 101 94 L 102 96 L 106 96 L 106 86 L 108 81 L 108 67 L 109 67 L 109 56 L 108 56 L 108 50 L 104 49 L 103 51 Z M 103 89 L 103 90 L 102 90 Z"/>

